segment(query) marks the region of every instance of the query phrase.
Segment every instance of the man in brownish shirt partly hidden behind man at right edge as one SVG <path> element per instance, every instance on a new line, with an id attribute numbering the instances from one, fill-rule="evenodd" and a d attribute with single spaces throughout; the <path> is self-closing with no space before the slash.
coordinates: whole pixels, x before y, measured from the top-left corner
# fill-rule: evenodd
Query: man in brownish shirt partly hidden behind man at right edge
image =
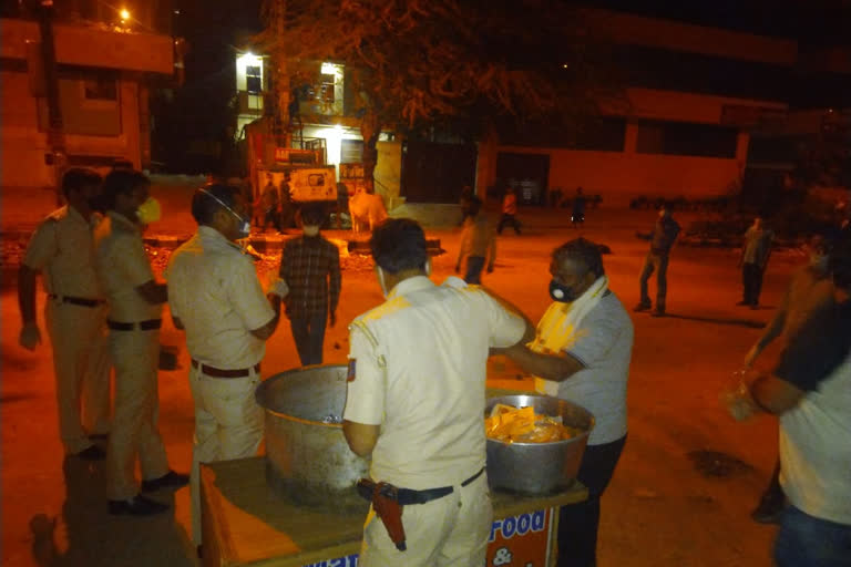
<path id="1" fill-rule="evenodd" d="M 792 275 L 783 301 L 762 336 L 745 357 L 745 369 L 750 369 L 760 353 L 777 338 L 783 343 L 798 333 L 804 321 L 833 307 L 833 280 L 828 271 L 828 243 L 822 236 L 813 236 L 807 244 L 809 262 Z M 780 461 L 775 466 L 771 481 L 762 493 L 751 517 L 761 524 L 776 523 L 783 508 L 783 491 L 780 487 Z"/>

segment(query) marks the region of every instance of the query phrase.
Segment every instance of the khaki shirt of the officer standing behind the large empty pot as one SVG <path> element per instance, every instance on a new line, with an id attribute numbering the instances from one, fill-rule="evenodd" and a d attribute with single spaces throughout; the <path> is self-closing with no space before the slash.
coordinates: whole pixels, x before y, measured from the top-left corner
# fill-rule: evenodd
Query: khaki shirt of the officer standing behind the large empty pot
<path id="1" fill-rule="evenodd" d="M 215 228 L 198 227 L 168 261 L 168 305 L 193 359 L 225 370 L 250 368 L 266 352 L 252 334 L 275 317 L 252 259 Z"/>

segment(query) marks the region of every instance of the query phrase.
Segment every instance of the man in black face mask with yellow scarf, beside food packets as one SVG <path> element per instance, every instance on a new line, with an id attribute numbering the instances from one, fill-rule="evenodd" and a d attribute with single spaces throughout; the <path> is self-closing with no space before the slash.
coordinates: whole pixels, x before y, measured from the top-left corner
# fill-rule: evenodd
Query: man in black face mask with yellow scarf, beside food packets
<path id="1" fill-rule="evenodd" d="M 534 341 L 505 351 L 534 374 L 535 389 L 586 408 L 595 426 L 577 478 L 588 499 L 561 508 L 558 567 L 596 565 L 599 499 L 626 442 L 626 384 L 633 351 L 633 323 L 608 289 L 596 244 L 571 240 L 553 251 L 553 303 Z"/>

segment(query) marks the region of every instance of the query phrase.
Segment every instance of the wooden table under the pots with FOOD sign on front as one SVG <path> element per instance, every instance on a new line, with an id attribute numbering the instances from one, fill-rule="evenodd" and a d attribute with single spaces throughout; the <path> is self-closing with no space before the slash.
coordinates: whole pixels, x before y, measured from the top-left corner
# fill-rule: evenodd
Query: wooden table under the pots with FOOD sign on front
<path id="1" fill-rule="evenodd" d="M 356 567 L 366 518 L 303 507 L 266 484 L 264 457 L 211 463 L 201 467 L 205 567 Z M 574 483 L 548 496 L 492 493 L 494 523 L 489 545 L 500 561 L 546 567 L 554 557 L 557 513 L 584 501 Z M 500 565 L 501 563 L 495 563 Z"/>

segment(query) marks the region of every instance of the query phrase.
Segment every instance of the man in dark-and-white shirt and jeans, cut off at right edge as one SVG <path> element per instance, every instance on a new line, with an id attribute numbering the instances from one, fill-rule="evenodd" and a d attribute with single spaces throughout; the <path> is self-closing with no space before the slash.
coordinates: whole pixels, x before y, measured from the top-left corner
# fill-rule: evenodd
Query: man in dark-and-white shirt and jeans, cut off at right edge
<path id="1" fill-rule="evenodd" d="M 780 484 L 788 504 L 778 567 L 851 566 L 851 240 L 831 250 L 833 306 L 811 313 L 771 372 L 752 371 L 732 398 L 737 419 L 780 419 Z"/>

